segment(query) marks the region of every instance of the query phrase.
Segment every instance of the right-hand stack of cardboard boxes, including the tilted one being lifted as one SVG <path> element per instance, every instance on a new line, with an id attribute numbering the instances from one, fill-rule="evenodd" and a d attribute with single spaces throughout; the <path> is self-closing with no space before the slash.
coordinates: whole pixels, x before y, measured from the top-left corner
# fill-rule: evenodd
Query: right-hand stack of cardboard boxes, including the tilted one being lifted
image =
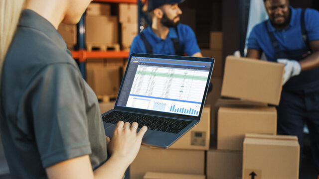
<path id="1" fill-rule="evenodd" d="M 217 102 L 217 149 L 207 152 L 207 179 L 298 178 L 298 141 L 276 136 L 277 111 L 268 106 L 279 104 L 283 73 L 282 64 L 227 57 L 221 95 L 239 99 Z"/>

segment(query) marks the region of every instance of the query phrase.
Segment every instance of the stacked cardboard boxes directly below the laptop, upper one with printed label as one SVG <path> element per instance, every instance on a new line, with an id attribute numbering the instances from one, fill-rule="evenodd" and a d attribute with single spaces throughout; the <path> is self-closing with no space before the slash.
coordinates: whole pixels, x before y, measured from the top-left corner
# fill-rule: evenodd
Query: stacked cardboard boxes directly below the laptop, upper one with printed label
<path id="1" fill-rule="evenodd" d="M 142 179 L 147 172 L 205 175 L 209 123 L 210 107 L 204 107 L 200 122 L 168 149 L 141 146 L 131 164 L 131 179 Z"/>

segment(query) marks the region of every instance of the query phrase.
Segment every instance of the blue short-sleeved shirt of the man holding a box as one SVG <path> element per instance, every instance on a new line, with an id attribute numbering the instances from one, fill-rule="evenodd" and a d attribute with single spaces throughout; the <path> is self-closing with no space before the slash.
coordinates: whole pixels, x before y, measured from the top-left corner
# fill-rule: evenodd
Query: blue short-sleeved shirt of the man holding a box
<path id="1" fill-rule="evenodd" d="M 274 32 L 274 35 L 283 51 L 297 50 L 306 47 L 301 32 L 301 8 L 291 9 L 290 24 L 286 29 L 275 29 L 270 20 L 267 20 L 268 31 Z M 315 9 L 307 9 L 305 12 L 305 24 L 309 41 L 319 40 L 319 12 Z M 268 61 L 275 61 L 275 49 L 272 46 L 264 22 L 257 24 L 248 38 L 248 48 L 262 50 Z M 291 59 L 296 60 L 296 59 Z"/>

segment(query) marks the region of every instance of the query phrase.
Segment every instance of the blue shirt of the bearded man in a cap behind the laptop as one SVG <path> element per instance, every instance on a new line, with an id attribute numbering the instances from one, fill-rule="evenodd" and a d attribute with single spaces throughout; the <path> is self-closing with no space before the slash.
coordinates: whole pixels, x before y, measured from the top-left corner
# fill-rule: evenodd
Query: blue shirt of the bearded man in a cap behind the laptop
<path id="1" fill-rule="evenodd" d="M 143 33 L 146 39 L 153 47 L 154 54 L 162 54 L 162 55 L 175 55 L 175 49 L 172 38 L 177 38 L 177 33 L 173 27 L 169 28 L 169 32 L 165 40 L 158 37 L 151 28 L 150 25 L 146 28 Z M 200 49 L 197 45 L 197 40 L 195 37 L 195 33 L 193 30 L 185 24 L 179 24 L 177 26 L 178 37 L 179 37 L 179 49 L 186 53 L 188 56 L 192 56 L 195 53 L 200 52 Z M 140 34 L 137 35 L 131 45 L 130 55 L 131 53 L 147 53 L 146 47 L 144 45 L 143 40 L 141 39 Z"/>

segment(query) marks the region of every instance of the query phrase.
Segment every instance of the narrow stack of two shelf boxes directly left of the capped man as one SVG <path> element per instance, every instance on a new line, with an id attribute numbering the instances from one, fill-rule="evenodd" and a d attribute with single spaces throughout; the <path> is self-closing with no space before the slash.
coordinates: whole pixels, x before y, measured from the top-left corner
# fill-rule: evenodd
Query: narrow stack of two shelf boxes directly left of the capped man
<path id="1" fill-rule="evenodd" d="M 133 3 L 119 4 L 119 21 L 122 25 L 122 45 L 129 50 L 134 37 L 138 34 L 138 6 Z"/>

